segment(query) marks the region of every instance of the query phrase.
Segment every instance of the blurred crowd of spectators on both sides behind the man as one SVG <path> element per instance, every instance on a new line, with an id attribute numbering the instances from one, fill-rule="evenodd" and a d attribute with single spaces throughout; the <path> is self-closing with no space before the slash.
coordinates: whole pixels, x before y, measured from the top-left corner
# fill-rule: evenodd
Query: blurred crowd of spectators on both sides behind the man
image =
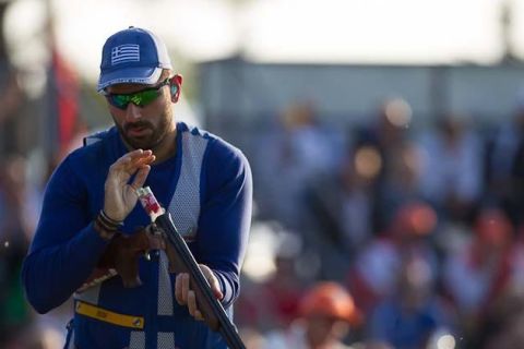
<path id="1" fill-rule="evenodd" d="M 20 266 L 46 179 L 81 137 L 35 159 L 20 146 L 19 80 L 2 76 L 0 347 L 58 348 L 71 304 L 36 316 Z M 403 98 L 372 112 L 333 129 L 300 101 L 257 136 L 254 222 L 277 242 L 271 273 L 242 275 L 235 316 L 248 347 L 521 348 L 524 98 L 481 125 L 449 113 L 414 128 Z"/>

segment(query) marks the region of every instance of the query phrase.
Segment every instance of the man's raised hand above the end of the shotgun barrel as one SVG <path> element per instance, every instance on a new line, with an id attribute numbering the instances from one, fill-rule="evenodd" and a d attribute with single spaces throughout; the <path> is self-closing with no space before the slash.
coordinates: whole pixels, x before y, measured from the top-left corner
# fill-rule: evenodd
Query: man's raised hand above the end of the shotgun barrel
<path id="1" fill-rule="evenodd" d="M 109 167 L 104 197 L 104 213 L 109 218 L 122 221 L 131 213 L 138 201 L 135 190 L 144 184 L 154 160 L 152 151 L 136 149 Z M 133 182 L 128 184 L 133 174 Z"/>

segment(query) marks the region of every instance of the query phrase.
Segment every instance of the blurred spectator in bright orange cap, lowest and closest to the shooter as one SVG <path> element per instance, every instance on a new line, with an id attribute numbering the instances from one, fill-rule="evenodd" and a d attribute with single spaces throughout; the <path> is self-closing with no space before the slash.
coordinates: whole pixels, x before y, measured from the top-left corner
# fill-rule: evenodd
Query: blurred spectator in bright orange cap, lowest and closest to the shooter
<path id="1" fill-rule="evenodd" d="M 299 303 L 300 316 L 285 330 L 270 333 L 267 349 L 352 348 L 344 338 L 361 315 L 352 296 L 336 282 L 318 282 Z"/>

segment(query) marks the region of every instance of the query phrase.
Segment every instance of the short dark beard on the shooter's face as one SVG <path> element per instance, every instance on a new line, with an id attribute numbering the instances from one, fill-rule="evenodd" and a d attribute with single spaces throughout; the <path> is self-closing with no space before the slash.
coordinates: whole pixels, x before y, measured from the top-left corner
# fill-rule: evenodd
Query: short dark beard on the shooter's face
<path id="1" fill-rule="evenodd" d="M 129 122 L 119 124 L 115 122 L 120 135 L 126 144 L 133 149 L 151 149 L 154 151 L 166 139 L 166 135 L 171 131 L 172 116 L 169 112 L 164 112 L 158 125 L 146 120 L 140 120 L 136 122 Z M 134 135 L 131 132 L 139 130 L 141 134 Z"/>

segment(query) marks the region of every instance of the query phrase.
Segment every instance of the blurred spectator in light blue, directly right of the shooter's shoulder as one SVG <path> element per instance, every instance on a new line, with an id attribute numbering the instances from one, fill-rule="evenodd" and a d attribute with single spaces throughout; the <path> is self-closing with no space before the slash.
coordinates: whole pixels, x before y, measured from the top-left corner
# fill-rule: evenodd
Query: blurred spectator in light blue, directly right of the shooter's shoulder
<path id="1" fill-rule="evenodd" d="M 321 124 L 312 103 L 301 101 L 289 105 L 263 139 L 254 163 L 261 212 L 300 230 L 306 186 L 319 173 L 332 172 L 340 159 L 336 137 Z"/>

